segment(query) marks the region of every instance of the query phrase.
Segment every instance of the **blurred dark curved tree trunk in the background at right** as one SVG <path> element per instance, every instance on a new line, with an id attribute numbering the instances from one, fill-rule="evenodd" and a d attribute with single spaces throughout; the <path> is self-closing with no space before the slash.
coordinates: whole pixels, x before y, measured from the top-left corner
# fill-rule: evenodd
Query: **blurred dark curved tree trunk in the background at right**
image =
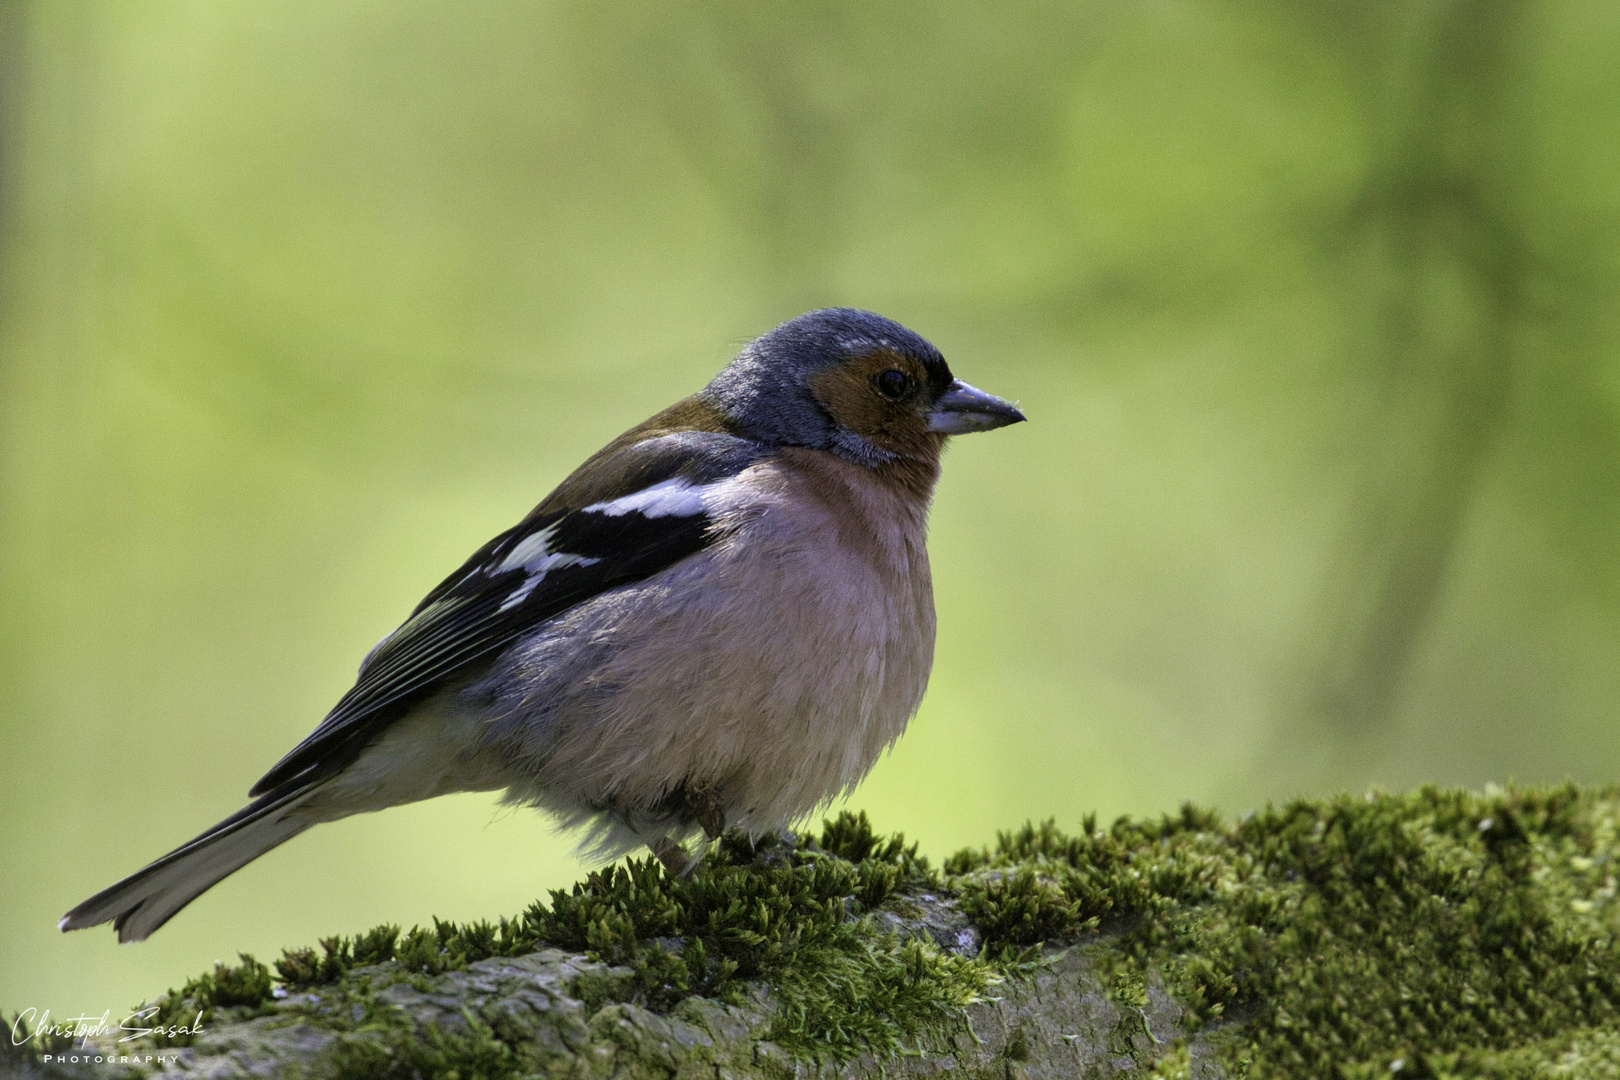
<path id="1" fill-rule="evenodd" d="M 1521 358 L 1531 267 L 1502 198 L 1500 102 L 1524 8 L 1380 8 L 1383 144 L 1353 225 L 1380 282 L 1382 400 L 1307 683 L 1346 733 L 1377 730 L 1398 701 Z"/>

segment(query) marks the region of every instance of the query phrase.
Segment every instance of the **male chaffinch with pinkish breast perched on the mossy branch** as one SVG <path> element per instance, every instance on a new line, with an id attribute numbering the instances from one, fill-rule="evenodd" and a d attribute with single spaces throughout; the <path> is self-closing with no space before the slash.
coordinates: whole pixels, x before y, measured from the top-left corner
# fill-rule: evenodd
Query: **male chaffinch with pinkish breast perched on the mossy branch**
<path id="1" fill-rule="evenodd" d="M 433 589 L 251 803 L 58 926 L 143 941 L 313 824 L 450 792 L 672 873 L 698 829 L 786 827 L 922 699 L 946 436 L 1021 419 L 881 316 L 784 322 Z"/>

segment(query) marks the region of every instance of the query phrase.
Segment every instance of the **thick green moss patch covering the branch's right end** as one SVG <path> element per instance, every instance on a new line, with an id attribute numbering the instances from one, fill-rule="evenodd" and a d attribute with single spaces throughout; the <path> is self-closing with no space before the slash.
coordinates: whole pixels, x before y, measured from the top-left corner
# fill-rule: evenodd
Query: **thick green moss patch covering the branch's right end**
<path id="1" fill-rule="evenodd" d="M 1544 1075 L 1523 1048 L 1620 1018 L 1615 821 L 1614 792 L 1422 789 L 1233 829 L 1191 808 L 1048 823 L 948 866 L 987 933 L 1113 929 L 1116 980 L 1165 980 L 1194 1025 L 1241 1020 L 1234 1070 Z"/>

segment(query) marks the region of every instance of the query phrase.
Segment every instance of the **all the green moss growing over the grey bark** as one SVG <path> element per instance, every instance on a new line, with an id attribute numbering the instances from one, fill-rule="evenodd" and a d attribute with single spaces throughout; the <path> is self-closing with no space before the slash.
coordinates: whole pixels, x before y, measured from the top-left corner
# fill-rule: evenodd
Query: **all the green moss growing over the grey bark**
<path id="1" fill-rule="evenodd" d="M 1106 1049 L 1142 1074 L 1197 1075 L 1213 1048 L 1249 1077 L 1620 1077 L 1617 861 L 1620 793 L 1573 785 L 1299 800 L 1230 827 L 1192 806 L 1072 834 L 1030 824 L 953 855 L 943 874 L 842 814 L 820 837 L 727 837 L 687 878 L 629 860 L 512 920 L 379 926 L 275 967 L 292 989 L 334 988 L 311 1009 L 347 1031 L 330 1065 L 348 1077 L 533 1070 L 522 1038 L 488 1017 L 420 1036 L 369 986 L 543 944 L 614 965 L 570 989 L 588 1014 L 744 1002 L 765 984 L 770 1040 L 881 1061 L 1064 942 L 1118 1015 Z M 978 957 L 873 916 L 923 892 L 959 899 Z M 1183 1009 L 1179 1031 L 1147 1027 L 1162 991 Z M 251 1010 L 267 993 L 243 957 L 164 1009 Z M 1014 1033 L 1003 1052 L 1016 1065 L 1032 1044 Z"/>

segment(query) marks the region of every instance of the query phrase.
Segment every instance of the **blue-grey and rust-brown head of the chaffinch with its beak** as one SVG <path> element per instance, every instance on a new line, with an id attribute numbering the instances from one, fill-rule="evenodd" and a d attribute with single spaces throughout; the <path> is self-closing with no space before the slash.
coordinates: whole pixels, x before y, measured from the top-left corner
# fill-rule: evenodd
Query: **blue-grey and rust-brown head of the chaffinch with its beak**
<path id="1" fill-rule="evenodd" d="M 854 308 L 810 311 L 755 338 L 700 397 L 755 439 L 867 466 L 936 455 L 946 436 L 1024 419 L 1011 402 L 953 377 L 920 335 Z"/>

